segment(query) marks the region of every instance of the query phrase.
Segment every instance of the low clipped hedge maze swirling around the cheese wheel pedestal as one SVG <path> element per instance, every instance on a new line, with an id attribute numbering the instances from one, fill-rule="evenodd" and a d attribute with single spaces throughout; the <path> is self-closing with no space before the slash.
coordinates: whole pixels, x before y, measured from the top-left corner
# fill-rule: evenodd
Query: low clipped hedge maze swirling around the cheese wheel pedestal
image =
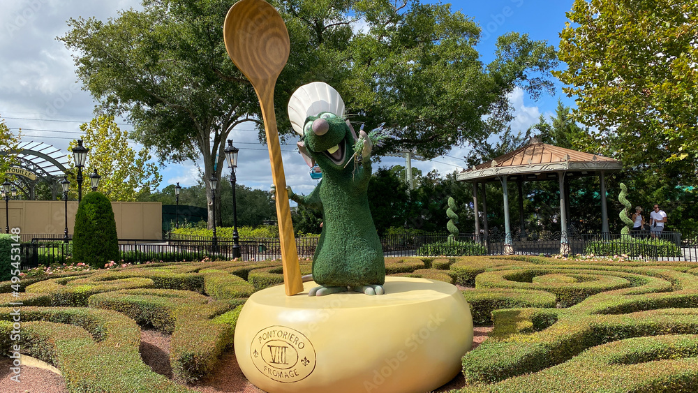
<path id="1" fill-rule="evenodd" d="M 686 262 L 386 258 L 386 271 L 467 287 L 475 324 L 493 323 L 463 356 L 461 392 L 698 391 L 698 267 Z M 278 260 L 24 277 L 20 344 L 61 369 L 70 392 L 191 392 L 185 383 L 232 350 L 247 297 L 280 283 Z M 0 283 L 3 348 L 11 290 Z M 172 380 L 142 362 L 140 328 L 171 335 Z"/>

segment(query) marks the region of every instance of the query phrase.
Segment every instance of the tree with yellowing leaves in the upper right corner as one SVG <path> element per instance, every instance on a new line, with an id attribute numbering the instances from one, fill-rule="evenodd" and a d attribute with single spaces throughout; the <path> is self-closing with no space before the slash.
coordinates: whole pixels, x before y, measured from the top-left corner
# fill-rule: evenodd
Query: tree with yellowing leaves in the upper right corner
<path id="1" fill-rule="evenodd" d="M 698 1 L 575 0 L 554 75 L 593 150 L 626 165 L 698 158 Z"/>

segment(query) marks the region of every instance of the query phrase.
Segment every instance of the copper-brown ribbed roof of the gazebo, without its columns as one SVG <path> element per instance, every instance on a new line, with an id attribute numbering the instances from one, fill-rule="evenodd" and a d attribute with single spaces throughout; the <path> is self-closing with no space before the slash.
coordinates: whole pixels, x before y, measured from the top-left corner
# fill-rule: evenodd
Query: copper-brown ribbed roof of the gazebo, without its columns
<path id="1" fill-rule="evenodd" d="M 596 172 L 615 172 L 623 168 L 621 161 L 565 149 L 535 141 L 492 161 L 463 170 L 456 179 L 460 181 L 494 181 L 498 177 L 548 180 L 565 172 L 568 177 L 595 175 Z"/>

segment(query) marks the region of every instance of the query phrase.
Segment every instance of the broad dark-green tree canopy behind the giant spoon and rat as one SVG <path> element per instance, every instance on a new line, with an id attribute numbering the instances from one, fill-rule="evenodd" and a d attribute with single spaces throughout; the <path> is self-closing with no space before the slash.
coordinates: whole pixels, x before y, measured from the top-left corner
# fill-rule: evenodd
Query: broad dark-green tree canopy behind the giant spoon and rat
<path id="1" fill-rule="evenodd" d="M 433 157 L 488 135 L 484 115 L 490 121 L 510 116 L 507 93 L 515 86 L 534 96 L 551 87 L 533 75 L 555 65 L 553 47 L 507 34 L 498 40 L 496 61 L 484 66 L 474 48 L 480 28 L 449 5 L 272 3 L 291 39 L 288 65 L 276 85 L 281 132 L 291 133 L 285 103 L 292 91 L 324 80 L 342 92 L 353 121 L 389 126 L 396 138 L 385 151 L 414 147 Z M 203 158 L 204 178 L 220 179 L 232 128 L 246 121 L 262 128 L 251 84 L 223 45 L 221 27 L 231 2 L 163 0 L 143 6 L 107 22 L 71 19 L 60 39 L 75 51 L 77 76 L 99 110 L 127 113 L 133 138 L 156 147 L 161 161 Z M 359 18 L 366 32 L 352 30 Z M 209 207 L 209 225 L 211 216 Z"/>

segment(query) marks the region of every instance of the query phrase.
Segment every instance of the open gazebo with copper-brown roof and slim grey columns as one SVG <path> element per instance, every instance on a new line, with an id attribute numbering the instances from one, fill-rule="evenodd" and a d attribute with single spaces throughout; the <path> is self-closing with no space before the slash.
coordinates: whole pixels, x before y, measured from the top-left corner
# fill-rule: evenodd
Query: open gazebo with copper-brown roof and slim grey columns
<path id="1" fill-rule="evenodd" d="M 509 193 L 507 183 L 516 181 L 519 187 L 519 212 L 523 227 L 523 196 L 521 184 L 523 181 L 543 181 L 557 179 L 560 185 L 560 254 L 570 253 L 570 242 L 567 236 L 567 212 L 569 200 L 565 193 L 567 180 L 575 177 L 598 176 L 601 193 L 602 232 L 609 232 L 608 211 L 606 207 L 605 175 L 623 168 L 621 161 L 557 147 L 540 142 L 537 137 L 531 138 L 530 143 L 510 153 L 494 158 L 492 161 L 475 165 L 463 170 L 456 179 L 473 183 L 473 205 L 475 207 L 475 232 L 480 233 L 479 211 L 477 205 L 477 184 L 490 181 L 500 181 L 504 194 L 504 223 L 505 223 L 505 253 L 514 253 L 512 242 L 511 221 L 509 217 Z M 486 198 L 483 195 L 483 208 L 487 214 Z M 487 215 L 484 218 L 487 232 Z"/>

